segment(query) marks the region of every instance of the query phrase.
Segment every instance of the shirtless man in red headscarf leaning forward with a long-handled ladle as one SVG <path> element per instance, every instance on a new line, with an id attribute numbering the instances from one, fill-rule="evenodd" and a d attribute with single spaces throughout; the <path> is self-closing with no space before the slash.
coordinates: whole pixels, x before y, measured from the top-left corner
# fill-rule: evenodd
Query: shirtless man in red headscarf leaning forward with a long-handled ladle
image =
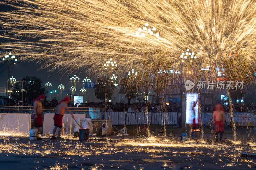
<path id="1" fill-rule="evenodd" d="M 63 100 L 60 101 L 60 103 L 58 103 L 58 106 L 56 108 L 56 112 L 54 115 L 54 129 L 53 129 L 53 135 L 52 138 L 53 139 L 63 139 L 62 137 L 60 137 L 60 133 L 61 133 L 61 129 L 62 129 L 62 119 L 65 113 L 65 108 L 68 110 L 68 112 L 72 115 L 73 118 L 75 118 L 75 116 L 73 115 L 73 113 L 71 112 L 71 110 L 68 108 L 68 102 L 71 101 L 69 100 L 69 97 L 66 96 Z M 55 136 L 55 133 L 58 129 L 58 136 Z"/>

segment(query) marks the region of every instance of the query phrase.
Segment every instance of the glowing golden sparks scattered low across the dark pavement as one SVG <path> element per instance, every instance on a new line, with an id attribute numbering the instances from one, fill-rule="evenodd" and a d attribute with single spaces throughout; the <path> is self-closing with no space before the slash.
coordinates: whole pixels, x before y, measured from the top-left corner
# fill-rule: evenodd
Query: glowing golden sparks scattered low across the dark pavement
<path id="1" fill-rule="evenodd" d="M 15 141 L 10 140 L 9 137 L 1 136 L 1 151 L 0 153 L 13 153 L 20 155 L 20 157 L 26 155 L 37 155 L 43 157 L 52 157 L 58 156 L 61 159 L 73 160 L 72 156 L 84 157 L 85 159 L 92 156 L 101 156 L 101 155 L 116 155 L 116 154 L 129 154 L 129 153 L 148 153 L 148 159 L 141 159 L 140 162 L 146 163 L 163 163 L 163 166 L 171 166 L 171 163 L 174 158 L 177 158 L 180 161 L 180 158 L 184 157 L 186 160 L 198 160 L 204 163 L 205 157 L 213 159 L 216 161 L 216 164 L 222 166 L 241 166 L 241 164 L 248 166 L 256 166 L 255 159 L 241 159 L 239 152 L 244 151 L 243 144 L 231 144 L 232 141 L 227 141 L 228 143 L 216 144 L 214 142 L 205 142 L 205 141 L 193 141 L 189 140 L 187 142 L 181 142 L 176 139 L 167 139 L 167 138 L 155 138 L 151 140 L 146 140 L 142 138 L 137 139 L 126 139 L 122 140 L 121 138 L 115 138 L 115 140 L 108 138 L 104 142 L 99 140 L 99 138 L 90 138 L 88 141 L 79 141 L 78 138 L 72 136 L 63 136 L 62 141 L 58 141 L 56 144 L 55 140 L 47 140 L 51 135 L 42 135 L 44 142 L 41 144 L 36 143 L 36 141 L 28 142 L 29 136 L 23 135 L 18 137 L 18 140 L 21 138 L 24 143 L 17 142 L 16 137 Z M 99 145 L 100 144 L 100 145 Z M 253 142 L 248 142 L 252 147 L 250 152 L 255 152 L 255 144 Z M 187 149 L 186 149 L 187 148 Z M 189 148 L 189 149 L 188 149 Z M 203 156 L 203 157 L 202 157 Z M 171 158 L 171 159 L 170 159 Z M 85 160 L 84 159 L 84 160 Z M 127 160 L 120 159 L 107 159 L 109 162 L 129 162 L 129 164 L 137 163 L 136 158 L 130 158 Z M 166 160 L 165 160 L 166 159 Z M 169 159 L 169 160 L 168 160 Z M 76 163 L 78 165 L 78 163 Z M 143 163 L 142 163 L 143 164 Z M 102 165 L 102 164 L 100 164 Z M 135 164 L 136 165 L 136 164 Z M 56 164 L 55 166 L 60 166 Z M 102 165 L 104 166 L 104 165 Z"/>

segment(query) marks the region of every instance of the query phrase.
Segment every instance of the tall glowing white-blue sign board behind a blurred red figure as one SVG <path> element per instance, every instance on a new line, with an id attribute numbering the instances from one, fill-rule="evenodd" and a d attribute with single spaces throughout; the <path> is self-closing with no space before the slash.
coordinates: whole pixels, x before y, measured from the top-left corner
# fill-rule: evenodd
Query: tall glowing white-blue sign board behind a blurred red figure
<path id="1" fill-rule="evenodd" d="M 193 119 L 195 118 L 196 123 L 198 123 L 198 94 L 186 94 L 186 123 L 192 124 Z M 196 103 L 196 106 L 194 107 L 195 115 L 192 110 L 194 103 Z"/>

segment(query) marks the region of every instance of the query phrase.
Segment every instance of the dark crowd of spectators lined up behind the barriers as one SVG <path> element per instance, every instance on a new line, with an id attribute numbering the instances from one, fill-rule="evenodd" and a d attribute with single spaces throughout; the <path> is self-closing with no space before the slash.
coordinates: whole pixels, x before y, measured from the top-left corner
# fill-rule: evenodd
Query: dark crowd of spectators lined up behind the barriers
<path id="1" fill-rule="evenodd" d="M 1 96 L 0 99 L 0 106 L 33 106 L 33 101 L 35 99 L 29 100 L 27 97 L 23 102 L 14 103 L 12 100 L 8 102 L 8 100 L 4 99 Z M 57 107 L 58 101 L 56 97 L 54 97 L 51 101 L 45 100 L 43 103 L 43 107 Z M 143 103 L 131 103 L 131 104 L 124 104 L 124 103 L 107 103 L 105 106 L 103 102 L 101 103 L 81 103 L 79 106 L 74 105 L 74 103 L 69 102 L 68 107 L 91 107 L 91 108 L 105 108 L 107 112 L 144 112 L 146 109 L 146 105 L 148 106 L 148 112 L 181 112 L 181 106 L 179 103 L 173 103 L 166 105 L 164 104 L 155 104 L 155 103 L 147 103 L 144 100 Z M 226 113 L 230 112 L 229 105 L 224 105 L 224 110 Z M 207 105 L 202 104 L 201 112 L 202 113 L 212 113 L 215 110 L 215 104 Z M 236 104 L 233 105 L 232 111 L 238 113 L 255 113 L 256 105 L 253 104 L 243 104 L 240 100 Z"/>

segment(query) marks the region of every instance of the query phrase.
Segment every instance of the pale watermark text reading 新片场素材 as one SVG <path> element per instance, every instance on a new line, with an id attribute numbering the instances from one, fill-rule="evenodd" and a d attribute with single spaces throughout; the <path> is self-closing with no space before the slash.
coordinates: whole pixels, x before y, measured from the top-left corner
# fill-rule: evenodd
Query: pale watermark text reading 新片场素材
<path id="1" fill-rule="evenodd" d="M 240 89 L 242 90 L 243 89 L 243 85 L 244 85 L 244 81 L 242 82 L 239 82 L 239 81 L 217 81 L 216 83 L 213 83 L 208 81 L 198 81 L 197 82 L 197 85 L 196 85 L 196 89 L 201 89 L 201 90 L 204 90 L 204 89 L 214 89 L 214 87 L 216 89 Z"/>

